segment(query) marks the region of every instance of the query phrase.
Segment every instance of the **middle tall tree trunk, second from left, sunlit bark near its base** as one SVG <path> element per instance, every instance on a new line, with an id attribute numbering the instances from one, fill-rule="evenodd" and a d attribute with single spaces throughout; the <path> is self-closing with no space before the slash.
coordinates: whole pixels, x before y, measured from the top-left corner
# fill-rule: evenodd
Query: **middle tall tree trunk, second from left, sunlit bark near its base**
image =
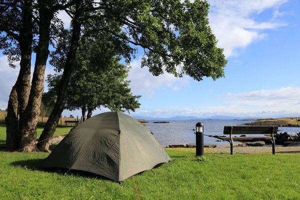
<path id="1" fill-rule="evenodd" d="M 28 104 L 25 110 L 25 118 L 20 124 L 20 147 L 24 151 L 35 151 L 36 125 L 39 115 L 41 96 L 44 89 L 44 72 L 49 54 L 50 23 L 53 18 L 53 0 L 38 1 L 39 5 L 39 40 L 36 48 L 36 59 L 31 82 Z"/>

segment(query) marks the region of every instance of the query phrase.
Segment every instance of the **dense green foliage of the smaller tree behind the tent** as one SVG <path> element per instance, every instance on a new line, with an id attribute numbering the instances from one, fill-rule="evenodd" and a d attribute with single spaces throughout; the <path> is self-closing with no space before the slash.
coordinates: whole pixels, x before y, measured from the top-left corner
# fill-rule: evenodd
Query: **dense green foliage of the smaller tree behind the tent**
<path id="1" fill-rule="evenodd" d="M 111 42 L 103 37 L 81 42 L 68 85 L 67 109 L 107 107 L 114 111 L 134 111 L 140 106 L 137 101 L 140 96 L 131 93 L 130 81 L 126 80 L 130 67 L 120 64 L 121 57 L 112 56 L 114 51 L 109 52 L 111 49 L 103 47 L 104 44 L 110 46 Z M 59 70 L 64 58 L 56 51 L 52 56 L 51 63 Z M 61 74 L 47 76 L 49 90 L 44 96 L 49 96 L 49 102 L 55 101 L 60 79 Z"/>

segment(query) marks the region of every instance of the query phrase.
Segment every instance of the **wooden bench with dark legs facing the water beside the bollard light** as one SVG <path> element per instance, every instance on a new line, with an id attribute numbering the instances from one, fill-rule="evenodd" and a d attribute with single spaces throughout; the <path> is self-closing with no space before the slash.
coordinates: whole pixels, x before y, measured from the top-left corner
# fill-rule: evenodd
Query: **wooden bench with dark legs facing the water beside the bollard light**
<path id="1" fill-rule="evenodd" d="M 230 154 L 233 155 L 233 140 L 271 140 L 272 153 L 275 154 L 274 134 L 277 133 L 277 125 L 225 125 L 223 134 L 229 134 L 229 137 L 221 137 L 230 143 Z M 271 136 L 238 136 L 232 137 L 232 134 L 270 134 Z"/>

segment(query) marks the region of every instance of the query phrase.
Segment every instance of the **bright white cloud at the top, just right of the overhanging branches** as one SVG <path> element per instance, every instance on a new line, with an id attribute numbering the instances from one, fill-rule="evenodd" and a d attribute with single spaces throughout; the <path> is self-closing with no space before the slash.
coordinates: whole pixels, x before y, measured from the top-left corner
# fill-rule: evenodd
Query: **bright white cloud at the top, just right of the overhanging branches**
<path id="1" fill-rule="evenodd" d="M 287 25 L 276 22 L 257 21 L 254 15 L 278 8 L 287 0 L 208 0 L 210 4 L 209 24 L 218 39 L 218 46 L 224 48 L 226 57 L 238 55 L 252 42 L 264 39 L 266 29 L 276 29 Z M 277 16 L 278 13 L 277 13 Z"/>

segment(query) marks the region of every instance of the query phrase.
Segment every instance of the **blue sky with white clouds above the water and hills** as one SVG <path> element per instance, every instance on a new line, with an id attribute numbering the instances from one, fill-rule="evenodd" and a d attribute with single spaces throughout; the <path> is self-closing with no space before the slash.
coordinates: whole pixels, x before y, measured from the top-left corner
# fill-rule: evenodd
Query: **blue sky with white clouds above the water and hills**
<path id="1" fill-rule="evenodd" d="M 153 76 L 140 68 L 142 50 L 130 63 L 128 79 L 141 107 L 130 115 L 151 117 L 225 115 L 300 116 L 300 1 L 208 0 L 209 25 L 228 60 L 224 78 Z M 69 18 L 59 17 L 68 27 Z M 34 60 L 33 60 L 34 61 Z M 34 62 L 32 61 L 32 66 Z M 16 63 L 17 64 L 17 63 Z M 33 68 L 32 68 L 33 71 Z M 54 73 L 47 64 L 46 74 Z M 0 53 L 0 108 L 18 74 Z M 46 77 L 46 75 L 45 75 Z M 46 84 L 45 84 L 46 85 Z M 45 88 L 46 90 L 47 88 Z M 106 109 L 97 109 L 97 114 Z M 80 110 L 62 115 L 81 116 Z"/>

